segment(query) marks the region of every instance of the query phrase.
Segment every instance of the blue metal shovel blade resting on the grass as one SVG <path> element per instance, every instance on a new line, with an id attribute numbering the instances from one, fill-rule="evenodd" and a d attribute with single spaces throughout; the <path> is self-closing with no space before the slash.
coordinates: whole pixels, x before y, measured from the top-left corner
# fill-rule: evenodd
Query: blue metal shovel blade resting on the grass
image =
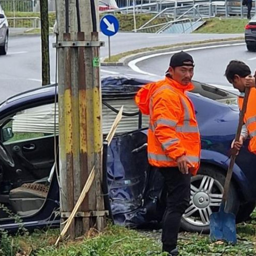
<path id="1" fill-rule="evenodd" d="M 237 243 L 236 216 L 220 210 L 210 216 L 210 239 Z"/>

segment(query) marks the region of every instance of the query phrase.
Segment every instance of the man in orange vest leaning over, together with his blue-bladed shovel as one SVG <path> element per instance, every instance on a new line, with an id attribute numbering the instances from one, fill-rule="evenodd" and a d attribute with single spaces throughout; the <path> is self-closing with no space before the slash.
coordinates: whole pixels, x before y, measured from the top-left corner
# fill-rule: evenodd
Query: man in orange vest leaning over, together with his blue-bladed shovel
<path id="1" fill-rule="evenodd" d="M 225 204 L 228 198 L 229 184 L 232 177 L 234 162 L 241 146 L 247 136 L 250 136 L 249 151 L 256 153 L 256 100 L 255 79 L 251 76 L 250 68 L 242 61 L 231 60 L 226 68 L 227 80 L 241 93 L 239 96 L 239 123 L 237 133 L 231 147 L 230 162 L 224 184 L 223 197 L 219 212 L 210 216 L 210 238 L 211 240 L 225 240 L 236 243 L 236 216 L 225 212 Z"/>

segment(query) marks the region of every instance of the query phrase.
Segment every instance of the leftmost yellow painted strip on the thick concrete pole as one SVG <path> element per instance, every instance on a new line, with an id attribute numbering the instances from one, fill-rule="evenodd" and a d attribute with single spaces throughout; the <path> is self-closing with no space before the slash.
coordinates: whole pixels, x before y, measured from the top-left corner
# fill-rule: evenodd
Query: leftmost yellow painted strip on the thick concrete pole
<path id="1" fill-rule="evenodd" d="M 66 89 L 64 93 L 65 100 L 65 140 L 66 140 L 66 153 L 73 152 L 72 141 L 72 104 L 71 104 L 71 90 Z"/>

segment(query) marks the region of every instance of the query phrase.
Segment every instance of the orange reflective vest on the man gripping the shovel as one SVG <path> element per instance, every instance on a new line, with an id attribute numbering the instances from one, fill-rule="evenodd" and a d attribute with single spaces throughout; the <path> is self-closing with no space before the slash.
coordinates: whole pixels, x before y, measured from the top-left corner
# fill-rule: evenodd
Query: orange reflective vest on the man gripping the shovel
<path id="1" fill-rule="evenodd" d="M 238 97 L 238 104 L 240 110 L 243 106 L 244 97 Z M 248 150 L 253 154 L 256 154 L 256 88 L 250 89 L 250 94 L 247 102 L 246 113 L 244 116 L 244 123 L 246 124 L 250 141 L 248 145 Z"/>

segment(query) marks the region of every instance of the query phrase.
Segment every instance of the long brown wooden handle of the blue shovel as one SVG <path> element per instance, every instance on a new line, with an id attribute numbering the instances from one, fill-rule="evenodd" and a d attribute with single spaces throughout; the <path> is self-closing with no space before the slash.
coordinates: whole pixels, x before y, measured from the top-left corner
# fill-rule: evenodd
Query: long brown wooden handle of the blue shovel
<path id="1" fill-rule="evenodd" d="M 249 93 L 250 93 L 250 88 L 246 87 L 245 88 L 245 96 L 244 96 L 242 110 L 240 111 L 240 114 L 239 114 L 238 129 L 237 129 L 237 133 L 236 133 L 236 137 L 235 137 L 234 141 L 239 141 L 239 139 L 240 139 L 242 126 L 244 124 L 244 115 L 245 115 L 246 108 L 247 108 Z M 227 171 L 227 176 L 226 176 L 225 184 L 224 184 L 224 191 L 223 191 L 223 197 L 222 197 L 222 204 L 223 205 L 225 205 L 225 203 L 227 201 L 227 195 L 228 195 L 230 180 L 231 180 L 231 177 L 232 177 L 232 172 L 233 172 L 233 167 L 234 167 L 234 162 L 235 161 L 236 161 L 236 152 L 233 151 L 233 153 L 231 155 L 231 158 L 230 158 L 228 171 Z"/>

